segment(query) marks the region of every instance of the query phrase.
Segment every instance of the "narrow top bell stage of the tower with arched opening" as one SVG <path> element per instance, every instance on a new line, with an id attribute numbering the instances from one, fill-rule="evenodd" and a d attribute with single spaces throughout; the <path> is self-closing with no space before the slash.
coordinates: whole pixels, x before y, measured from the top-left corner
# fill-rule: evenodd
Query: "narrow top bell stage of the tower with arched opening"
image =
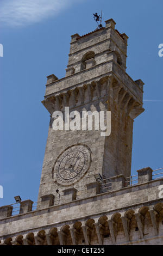
<path id="1" fill-rule="evenodd" d="M 116 22 L 112 19 L 105 21 L 105 27 L 96 29 L 83 36 L 71 36 L 70 54 L 66 76 L 84 70 L 93 65 L 103 63 L 110 58 L 109 52 L 114 51 L 115 59 L 121 68 L 126 70 L 128 36 L 115 29 Z M 87 60 L 92 60 L 87 63 Z M 73 71 L 72 71 L 73 70 Z"/>

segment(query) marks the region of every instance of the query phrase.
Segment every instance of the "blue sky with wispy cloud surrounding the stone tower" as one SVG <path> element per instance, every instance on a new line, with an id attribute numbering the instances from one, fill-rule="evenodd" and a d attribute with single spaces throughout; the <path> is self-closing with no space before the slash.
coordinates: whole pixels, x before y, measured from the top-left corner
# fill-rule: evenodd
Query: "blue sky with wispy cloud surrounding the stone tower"
<path id="1" fill-rule="evenodd" d="M 65 77 L 71 35 L 96 29 L 92 13 L 103 10 L 128 39 L 127 73 L 144 83 L 143 107 L 134 121 L 131 174 L 162 163 L 162 0 L 1 0 L 0 205 L 37 201 L 49 113 L 41 101 L 46 76 Z"/>

